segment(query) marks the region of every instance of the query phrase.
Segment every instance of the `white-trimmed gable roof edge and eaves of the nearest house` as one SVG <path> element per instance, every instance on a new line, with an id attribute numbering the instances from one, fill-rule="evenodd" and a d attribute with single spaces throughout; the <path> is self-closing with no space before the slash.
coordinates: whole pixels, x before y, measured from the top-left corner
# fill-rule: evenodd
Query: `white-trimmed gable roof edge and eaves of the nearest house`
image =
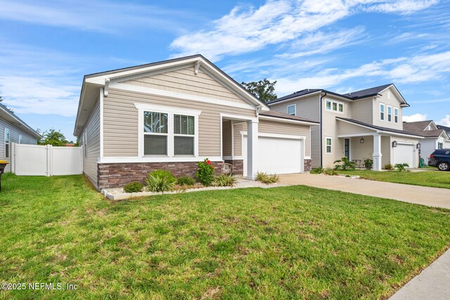
<path id="1" fill-rule="evenodd" d="M 145 65 L 136 65 L 133 67 L 124 67 L 122 69 L 84 75 L 82 91 L 79 97 L 77 119 L 75 120 L 74 135 L 79 136 L 82 128 L 86 124 L 91 107 L 92 105 L 94 105 L 94 101 L 96 100 L 95 97 L 98 95 L 98 89 L 102 86 L 105 86 L 105 90 L 107 90 L 109 82 L 111 80 L 126 79 L 127 77 L 134 75 L 144 75 L 155 70 L 164 70 L 165 68 L 169 67 L 177 67 L 189 64 L 194 65 L 195 70 L 198 70 L 198 67 L 202 65 L 202 67 L 204 67 L 207 71 L 210 71 L 212 74 L 217 75 L 217 78 L 221 80 L 221 82 L 223 82 L 223 84 L 225 84 L 229 89 L 237 93 L 239 96 L 245 99 L 245 101 L 248 101 L 248 103 L 255 105 L 255 109 L 256 107 L 260 107 L 262 111 L 269 110 L 269 106 L 266 105 L 266 103 L 256 98 L 252 93 L 241 86 L 238 81 L 234 80 L 224 71 L 220 70 L 219 67 L 211 63 L 210 60 L 207 60 L 207 58 L 205 58 L 201 54 L 196 54 L 183 58 L 162 60 L 156 63 L 148 63 Z M 107 95 L 107 92 L 105 92 L 105 95 Z"/>

